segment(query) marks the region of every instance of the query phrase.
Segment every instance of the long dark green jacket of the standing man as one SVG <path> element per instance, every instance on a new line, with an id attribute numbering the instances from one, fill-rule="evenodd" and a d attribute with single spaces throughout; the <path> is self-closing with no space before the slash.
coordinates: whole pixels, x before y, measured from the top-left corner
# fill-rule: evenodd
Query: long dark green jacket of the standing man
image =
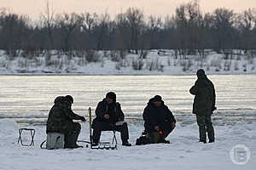
<path id="1" fill-rule="evenodd" d="M 207 76 L 199 78 L 189 92 L 195 95 L 193 113 L 199 116 L 211 116 L 215 109 L 216 94 L 214 85 Z"/>

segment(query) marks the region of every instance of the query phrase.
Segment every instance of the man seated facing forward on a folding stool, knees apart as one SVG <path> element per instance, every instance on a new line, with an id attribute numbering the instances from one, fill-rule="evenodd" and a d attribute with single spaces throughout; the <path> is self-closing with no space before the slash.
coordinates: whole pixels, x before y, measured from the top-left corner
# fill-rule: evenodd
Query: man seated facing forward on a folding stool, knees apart
<path id="1" fill-rule="evenodd" d="M 96 118 L 93 120 L 93 145 L 97 145 L 102 131 L 118 131 L 121 133 L 122 144 L 131 146 L 128 142 L 129 132 L 127 123 L 124 122 L 125 115 L 121 106 L 116 102 L 116 94 L 109 92 L 96 107 Z"/>

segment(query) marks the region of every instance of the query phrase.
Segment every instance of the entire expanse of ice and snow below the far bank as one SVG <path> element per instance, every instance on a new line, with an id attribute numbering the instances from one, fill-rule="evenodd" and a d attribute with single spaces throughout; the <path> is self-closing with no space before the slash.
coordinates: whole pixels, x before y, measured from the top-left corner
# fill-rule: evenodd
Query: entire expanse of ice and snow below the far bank
<path id="1" fill-rule="evenodd" d="M 217 92 L 218 111 L 212 116 L 216 143 L 198 143 L 198 127 L 191 114 L 193 96 L 189 88 L 195 76 L 116 77 L 0 77 L 0 170 L 59 169 L 177 169 L 251 170 L 256 166 L 255 75 L 210 76 Z M 157 82 L 157 83 L 152 83 Z M 72 94 L 73 110 L 87 115 L 106 92 L 118 94 L 130 129 L 130 142 L 143 132 L 142 111 L 148 99 L 160 94 L 177 118 L 177 128 L 168 137 L 171 144 L 149 144 L 118 150 L 41 150 L 46 139 L 45 120 L 55 96 Z M 7 119 L 10 118 L 10 119 Z M 135 118 L 135 119 L 134 119 Z M 19 122 L 17 124 L 15 121 Z M 39 124 L 39 126 L 36 126 Z M 89 139 L 89 123 L 82 123 L 79 136 Z M 35 146 L 17 144 L 20 127 L 36 129 Z M 117 135 L 120 144 L 119 134 Z M 111 141 L 112 133 L 102 133 Z M 24 133 L 29 143 L 29 133 Z M 81 143 L 83 144 L 83 143 Z M 230 159 L 230 150 L 243 144 L 251 151 L 245 165 Z M 84 145 L 84 144 L 83 144 Z M 236 154 L 236 153 L 234 153 Z"/>

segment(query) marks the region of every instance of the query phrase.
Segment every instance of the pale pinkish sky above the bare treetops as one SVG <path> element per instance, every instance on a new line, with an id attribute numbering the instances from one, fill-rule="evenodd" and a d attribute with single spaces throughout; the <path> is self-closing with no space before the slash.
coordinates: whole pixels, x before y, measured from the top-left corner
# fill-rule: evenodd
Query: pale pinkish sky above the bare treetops
<path id="1" fill-rule="evenodd" d="M 241 12 L 247 8 L 256 8 L 256 0 L 199 0 L 204 12 L 225 7 Z M 173 14 L 175 8 L 189 0 L 49 0 L 53 2 L 56 13 L 96 12 L 118 14 L 129 7 L 142 8 L 145 14 Z M 46 0 L 0 0 L 0 8 L 9 8 L 18 14 L 29 14 L 38 18 L 44 12 Z"/>

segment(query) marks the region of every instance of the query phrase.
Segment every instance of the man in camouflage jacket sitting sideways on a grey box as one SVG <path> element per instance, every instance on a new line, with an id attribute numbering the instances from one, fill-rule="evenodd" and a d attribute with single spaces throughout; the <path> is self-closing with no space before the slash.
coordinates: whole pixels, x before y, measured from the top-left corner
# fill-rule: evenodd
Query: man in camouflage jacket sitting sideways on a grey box
<path id="1" fill-rule="evenodd" d="M 46 133 L 64 133 L 65 144 L 64 148 L 78 148 L 76 144 L 79 138 L 81 125 L 73 120 L 85 121 L 84 116 L 75 114 L 71 106 L 73 97 L 70 95 L 59 96 L 55 99 L 55 105 L 49 111 L 47 120 Z"/>

